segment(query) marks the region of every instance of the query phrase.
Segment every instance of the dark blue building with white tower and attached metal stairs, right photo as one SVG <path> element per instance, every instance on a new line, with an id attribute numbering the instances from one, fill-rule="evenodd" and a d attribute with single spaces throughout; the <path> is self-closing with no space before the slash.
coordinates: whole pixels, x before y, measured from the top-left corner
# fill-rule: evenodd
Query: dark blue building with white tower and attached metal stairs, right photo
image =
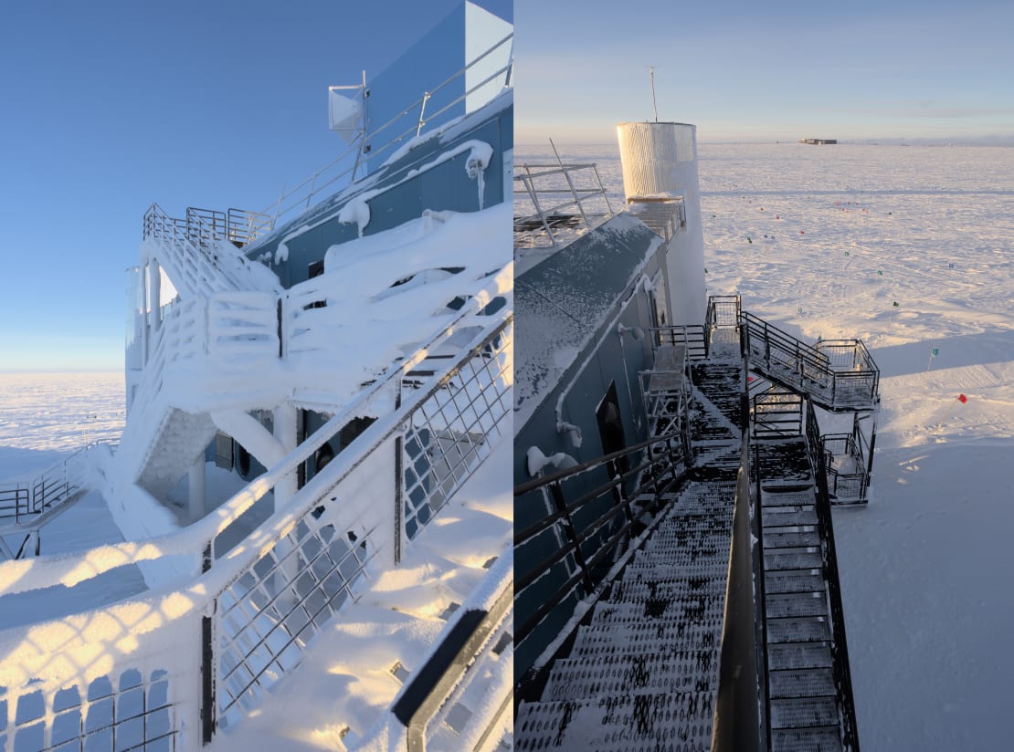
<path id="1" fill-rule="evenodd" d="M 878 372 L 706 299 L 695 127 L 618 133 L 627 212 L 515 170 L 515 746 L 857 749 L 830 504 Z"/>

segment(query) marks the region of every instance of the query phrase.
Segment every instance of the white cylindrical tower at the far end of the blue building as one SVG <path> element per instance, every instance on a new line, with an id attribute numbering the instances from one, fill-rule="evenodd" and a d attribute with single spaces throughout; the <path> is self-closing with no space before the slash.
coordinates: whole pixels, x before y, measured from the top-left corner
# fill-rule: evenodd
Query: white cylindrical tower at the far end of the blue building
<path id="1" fill-rule="evenodd" d="M 669 311 L 674 324 L 702 323 L 707 302 L 697 126 L 621 123 L 617 135 L 628 203 L 682 199 L 685 227 L 669 241 L 666 264 Z"/>

